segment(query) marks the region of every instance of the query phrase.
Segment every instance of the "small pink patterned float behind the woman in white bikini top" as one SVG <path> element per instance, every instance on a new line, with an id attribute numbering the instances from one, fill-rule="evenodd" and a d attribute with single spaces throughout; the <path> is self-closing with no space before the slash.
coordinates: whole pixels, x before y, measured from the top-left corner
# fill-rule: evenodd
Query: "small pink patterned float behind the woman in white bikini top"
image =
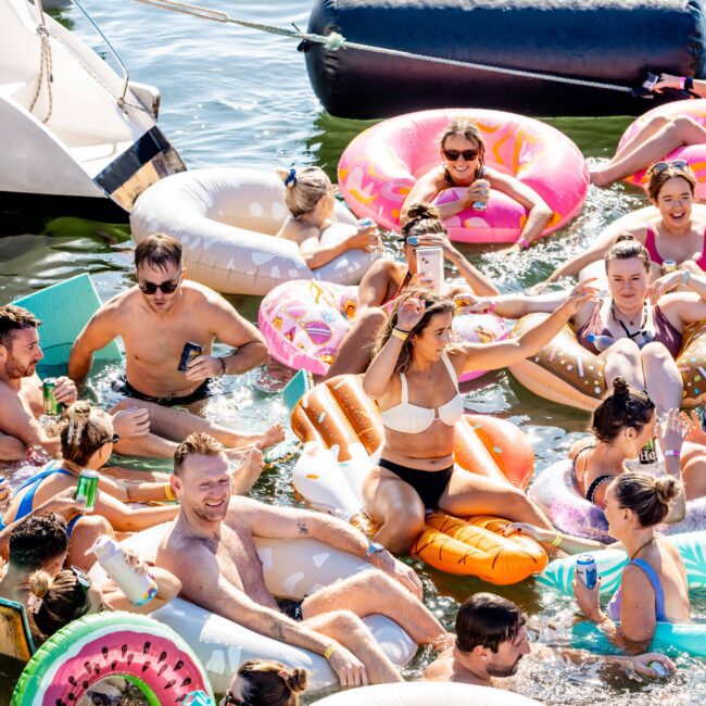
<path id="1" fill-rule="evenodd" d="M 293 280 L 263 299 L 257 324 L 274 358 L 295 370 L 326 375 L 356 306 L 357 287 Z M 454 317 L 454 332 L 464 341 L 490 343 L 507 338 L 509 327 L 495 314 L 464 314 Z M 461 380 L 483 373 L 466 373 Z"/>

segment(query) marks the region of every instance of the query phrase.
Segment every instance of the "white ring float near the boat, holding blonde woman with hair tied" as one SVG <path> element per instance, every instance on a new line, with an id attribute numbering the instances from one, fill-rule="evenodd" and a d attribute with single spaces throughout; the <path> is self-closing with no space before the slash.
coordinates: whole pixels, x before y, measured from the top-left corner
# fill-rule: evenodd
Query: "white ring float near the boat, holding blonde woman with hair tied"
<path id="1" fill-rule="evenodd" d="M 272 172 L 211 167 L 161 179 L 147 189 L 130 213 L 136 243 L 161 232 L 184 245 L 188 277 L 230 294 L 266 294 L 291 279 L 357 285 L 376 253 L 349 250 L 316 270 L 299 245 L 274 238 L 287 217 L 285 187 Z M 338 223 L 322 235 L 332 243 L 351 235 L 355 217 L 336 204 Z"/>

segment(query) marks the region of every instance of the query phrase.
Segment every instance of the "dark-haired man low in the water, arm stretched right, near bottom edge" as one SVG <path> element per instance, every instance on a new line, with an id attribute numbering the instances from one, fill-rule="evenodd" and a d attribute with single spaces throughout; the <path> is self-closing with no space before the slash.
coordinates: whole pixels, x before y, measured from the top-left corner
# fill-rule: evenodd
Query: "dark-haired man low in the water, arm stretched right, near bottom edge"
<path id="1" fill-rule="evenodd" d="M 573 661 L 616 663 L 644 677 L 657 676 L 648 666 L 654 661 L 660 663 L 667 671 L 675 670 L 667 657 L 656 653 L 634 657 L 606 656 L 530 644 L 526 622 L 527 616 L 512 601 L 494 593 L 471 595 L 458 608 L 456 644 L 427 667 L 423 679 L 504 689 L 506 684 L 496 679 L 515 675 L 525 655 L 531 655 L 533 659 L 560 655 Z"/>

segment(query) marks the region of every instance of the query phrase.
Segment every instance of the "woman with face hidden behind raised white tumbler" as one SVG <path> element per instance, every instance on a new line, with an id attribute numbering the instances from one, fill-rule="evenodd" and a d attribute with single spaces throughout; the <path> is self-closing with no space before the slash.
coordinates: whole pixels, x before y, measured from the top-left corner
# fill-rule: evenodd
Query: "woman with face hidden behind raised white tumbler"
<path id="1" fill-rule="evenodd" d="M 479 297 L 499 293 L 495 285 L 453 247 L 436 206 L 413 204 L 398 241 L 402 243 L 403 260 L 377 260 L 361 280 L 355 317 L 328 369 L 327 378 L 365 373 L 375 340 L 387 324 L 393 303 L 408 289 L 431 285 L 431 280 L 417 270 L 417 248 L 441 248 L 444 259 L 464 278 L 464 285 L 447 286 L 450 297 L 462 292 Z"/>

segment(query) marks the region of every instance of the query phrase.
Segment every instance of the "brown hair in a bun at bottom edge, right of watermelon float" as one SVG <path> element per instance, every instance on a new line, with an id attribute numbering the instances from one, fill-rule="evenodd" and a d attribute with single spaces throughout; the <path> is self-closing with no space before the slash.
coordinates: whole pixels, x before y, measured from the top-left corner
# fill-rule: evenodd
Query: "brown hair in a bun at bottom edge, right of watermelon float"
<path id="1" fill-rule="evenodd" d="M 249 659 L 238 676 L 247 706 L 295 706 L 308 681 L 305 669 L 290 669 L 272 659 Z"/>

